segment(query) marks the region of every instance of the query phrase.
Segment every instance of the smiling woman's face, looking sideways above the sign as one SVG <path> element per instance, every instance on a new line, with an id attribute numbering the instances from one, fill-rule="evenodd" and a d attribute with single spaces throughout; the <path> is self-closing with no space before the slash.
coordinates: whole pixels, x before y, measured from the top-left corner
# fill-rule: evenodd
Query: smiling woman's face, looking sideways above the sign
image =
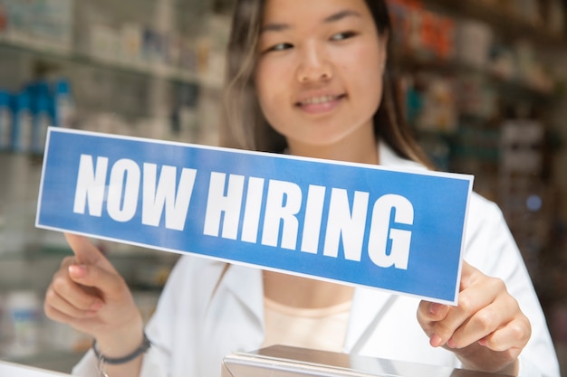
<path id="1" fill-rule="evenodd" d="M 374 145 L 385 60 L 364 0 L 267 0 L 255 71 L 264 117 L 293 153 Z"/>

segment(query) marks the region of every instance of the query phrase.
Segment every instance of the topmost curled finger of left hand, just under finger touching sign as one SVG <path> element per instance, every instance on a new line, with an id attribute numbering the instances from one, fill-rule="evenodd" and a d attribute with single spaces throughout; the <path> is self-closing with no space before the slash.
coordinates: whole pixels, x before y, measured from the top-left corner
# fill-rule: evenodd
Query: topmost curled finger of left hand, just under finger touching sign
<path id="1" fill-rule="evenodd" d="M 72 265 L 69 266 L 69 276 L 76 283 L 97 288 L 104 301 L 120 299 L 130 292 L 126 282 L 117 272 L 99 266 Z"/>

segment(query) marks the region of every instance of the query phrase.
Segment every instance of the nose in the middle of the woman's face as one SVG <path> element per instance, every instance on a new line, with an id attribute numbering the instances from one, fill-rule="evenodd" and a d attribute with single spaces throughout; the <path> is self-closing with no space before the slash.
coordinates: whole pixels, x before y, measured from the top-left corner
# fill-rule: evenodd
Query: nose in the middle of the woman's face
<path id="1" fill-rule="evenodd" d="M 300 53 L 297 80 L 300 83 L 332 79 L 332 62 L 322 46 L 307 45 Z"/>

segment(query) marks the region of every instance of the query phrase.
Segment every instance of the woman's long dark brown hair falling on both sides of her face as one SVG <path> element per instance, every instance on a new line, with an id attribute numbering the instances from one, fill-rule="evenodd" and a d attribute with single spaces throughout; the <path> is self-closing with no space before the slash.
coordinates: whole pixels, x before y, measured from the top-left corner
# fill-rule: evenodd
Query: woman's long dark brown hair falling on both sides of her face
<path id="1" fill-rule="evenodd" d="M 384 0 L 365 0 L 380 35 L 391 34 L 388 7 Z M 224 117 L 221 145 L 265 152 L 282 152 L 285 138 L 265 120 L 255 97 L 254 72 L 256 46 L 262 26 L 265 0 L 236 0 L 232 30 L 227 46 Z M 392 38 L 388 38 L 389 41 Z M 390 44 L 390 43 L 389 43 Z M 428 165 L 404 121 L 399 105 L 399 90 L 391 77 L 388 59 L 384 73 L 380 108 L 374 114 L 374 134 L 401 157 Z"/>

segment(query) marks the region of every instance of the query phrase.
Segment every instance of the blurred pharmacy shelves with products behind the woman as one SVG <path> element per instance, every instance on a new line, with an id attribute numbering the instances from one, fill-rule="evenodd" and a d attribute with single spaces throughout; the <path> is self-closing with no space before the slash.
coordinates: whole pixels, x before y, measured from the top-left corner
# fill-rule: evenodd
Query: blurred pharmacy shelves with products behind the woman
<path id="1" fill-rule="evenodd" d="M 567 372 L 565 0 L 389 0 L 391 75 L 441 170 L 514 234 Z M 0 0 L 0 359 L 62 372 L 91 340 L 43 317 L 70 251 L 34 228 L 48 125 L 216 145 L 232 0 Z M 100 242 L 147 319 L 177 256 Z"/>

